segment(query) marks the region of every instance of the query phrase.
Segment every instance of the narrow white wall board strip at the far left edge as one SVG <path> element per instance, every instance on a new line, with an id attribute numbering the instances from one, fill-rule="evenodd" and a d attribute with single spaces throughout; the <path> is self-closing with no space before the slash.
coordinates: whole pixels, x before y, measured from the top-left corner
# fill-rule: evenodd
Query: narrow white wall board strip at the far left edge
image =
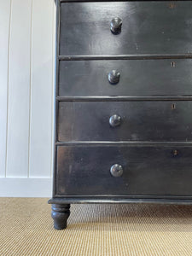
<path id="1" fill-rule="evenodd" d="M 5 177 L 10 0 L 0 0 L 0 177 Z"/>

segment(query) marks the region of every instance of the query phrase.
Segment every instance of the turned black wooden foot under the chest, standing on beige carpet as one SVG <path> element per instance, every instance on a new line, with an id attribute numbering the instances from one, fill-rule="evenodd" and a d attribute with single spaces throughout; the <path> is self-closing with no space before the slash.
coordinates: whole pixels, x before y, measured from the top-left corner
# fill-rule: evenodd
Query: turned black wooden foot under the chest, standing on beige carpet
<path id="1" fill-rule="evenodd" d="M 67 228 L 67 218 L 70 215 L 70 205 L 52 205 L 51 217 L 54 219 L 54 227 L 56 230 L 64 230 Z"/>

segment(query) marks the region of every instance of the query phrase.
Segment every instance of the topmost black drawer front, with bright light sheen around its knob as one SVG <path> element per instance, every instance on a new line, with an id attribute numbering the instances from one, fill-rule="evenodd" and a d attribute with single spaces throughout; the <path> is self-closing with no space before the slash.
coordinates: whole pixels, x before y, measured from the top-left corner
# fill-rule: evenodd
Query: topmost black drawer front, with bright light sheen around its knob
<path id="1" fill-rule="evenodd" d="M 192 53 L 191 9 L 192 1 L 61 3 L 60 55 Z"/>

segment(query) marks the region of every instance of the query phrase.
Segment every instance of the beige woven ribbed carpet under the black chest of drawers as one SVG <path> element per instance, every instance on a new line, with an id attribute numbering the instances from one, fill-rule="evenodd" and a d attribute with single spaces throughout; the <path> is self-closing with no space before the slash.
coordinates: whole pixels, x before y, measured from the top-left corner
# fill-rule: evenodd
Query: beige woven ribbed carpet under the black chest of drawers
<path id="1" fill-rule="evenodd" d="M 54 230 L 47 199 L 0 199 L 0 255 L 192 255 L 192 207 L 72 205 Z"/>

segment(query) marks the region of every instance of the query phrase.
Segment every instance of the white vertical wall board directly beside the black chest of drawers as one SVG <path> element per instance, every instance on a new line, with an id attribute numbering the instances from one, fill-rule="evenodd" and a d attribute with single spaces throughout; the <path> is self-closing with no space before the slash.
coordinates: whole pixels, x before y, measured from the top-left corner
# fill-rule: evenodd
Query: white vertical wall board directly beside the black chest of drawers
<path id="1" fill-rule="evenodd" d="M 52 164 L 53 0 L 32 3 L 29 177 L 50 177 Z"/>

